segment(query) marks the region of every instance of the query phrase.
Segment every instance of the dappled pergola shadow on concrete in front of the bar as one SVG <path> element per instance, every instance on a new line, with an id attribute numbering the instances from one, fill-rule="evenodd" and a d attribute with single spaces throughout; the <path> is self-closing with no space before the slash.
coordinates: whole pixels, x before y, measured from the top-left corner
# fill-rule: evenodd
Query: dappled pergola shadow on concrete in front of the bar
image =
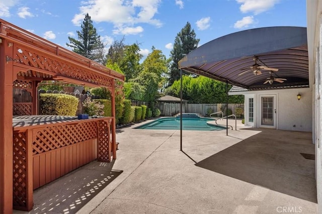
<path id="1" fill-rule="evenodd" d="M 113 164 L 95 160 L 34 190 L 29 213 L 75 213 L 123 172 Z"/>

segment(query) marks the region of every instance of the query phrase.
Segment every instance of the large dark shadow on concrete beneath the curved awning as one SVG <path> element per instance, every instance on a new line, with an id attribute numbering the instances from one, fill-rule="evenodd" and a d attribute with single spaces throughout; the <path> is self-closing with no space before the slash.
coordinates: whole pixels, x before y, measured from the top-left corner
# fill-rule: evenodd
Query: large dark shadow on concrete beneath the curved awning
<path id="1" fill-rule="evenodd" d="M 315 161 L 300 154 L 314 154 L 312 133 L 248 130 L 261 132 L 196 166 L 316 203 Z"/>

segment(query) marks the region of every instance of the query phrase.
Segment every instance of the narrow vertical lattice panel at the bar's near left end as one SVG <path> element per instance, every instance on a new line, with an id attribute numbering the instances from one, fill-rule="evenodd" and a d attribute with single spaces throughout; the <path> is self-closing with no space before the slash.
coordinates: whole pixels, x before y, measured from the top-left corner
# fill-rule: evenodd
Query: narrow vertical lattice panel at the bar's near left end
<path id="1" fill-rule="evenodd" d="M 14 146 L 14 180 L 13 180 L 13 205 L 27 206 L 27 153 L 26 133 L 13 134 Z"/>

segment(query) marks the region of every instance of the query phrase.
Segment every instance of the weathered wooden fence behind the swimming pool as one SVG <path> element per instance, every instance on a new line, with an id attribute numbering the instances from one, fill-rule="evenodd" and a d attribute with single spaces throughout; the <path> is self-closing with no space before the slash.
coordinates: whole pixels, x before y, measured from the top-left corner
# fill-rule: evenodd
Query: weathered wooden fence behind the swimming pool
<path id="1" fill-rule="evenodd" d="M 208 113 L 222 111 L 226 104 L 191 104 L 183 103 L 183 113 L 198 113 L 208 115 Z M 155 105 L 161 112 L 161 116 L 173 116 L 180 113 L 180 103 L 158 102 Z M 244 104 L 228 104 L 228 109 L 234 114 L 236 108 L 243 108 Z"/>

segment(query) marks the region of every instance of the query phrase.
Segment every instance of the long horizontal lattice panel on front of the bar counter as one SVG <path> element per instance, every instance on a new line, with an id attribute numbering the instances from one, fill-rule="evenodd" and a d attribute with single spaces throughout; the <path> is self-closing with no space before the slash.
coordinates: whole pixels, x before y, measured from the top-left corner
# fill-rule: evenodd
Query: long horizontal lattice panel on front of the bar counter
<path id="1" fill-rule="evenodd" d="M 55 125 L 38 129 L 33 142 L 33 154 L 97 138 L 97 122 Z"/>

